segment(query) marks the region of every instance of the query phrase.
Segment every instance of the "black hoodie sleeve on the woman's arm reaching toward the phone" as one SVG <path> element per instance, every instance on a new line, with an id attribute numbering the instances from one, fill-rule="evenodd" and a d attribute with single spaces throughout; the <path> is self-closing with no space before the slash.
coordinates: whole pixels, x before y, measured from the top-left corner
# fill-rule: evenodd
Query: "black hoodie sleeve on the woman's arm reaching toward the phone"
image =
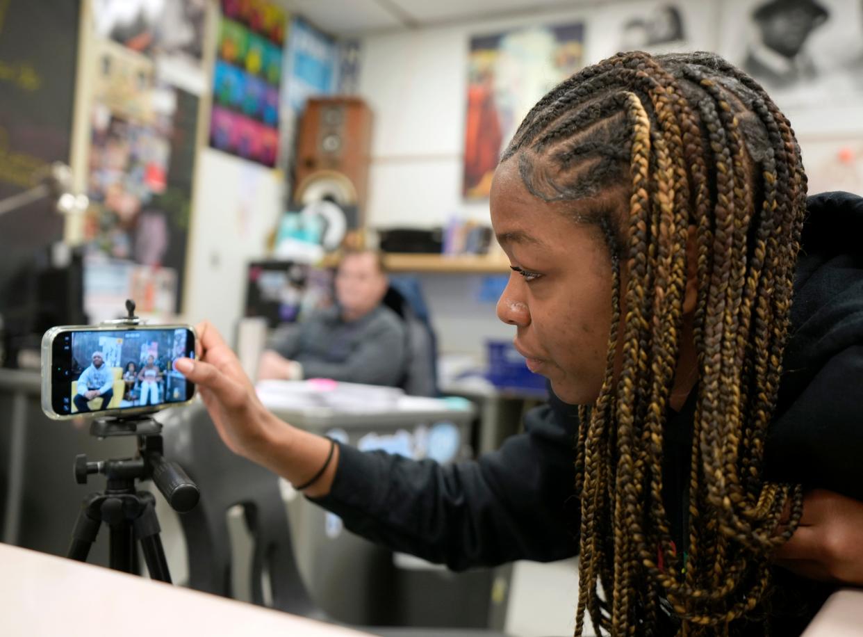
<path id="1" fill-rule="evenodd" d="M 571 410 L 537 407 L 500 450 L 449 465 L 342 445 L 330 494 L 313 501 L 354 533 L 454 571 L 567 558 L 576 426 Z"/>

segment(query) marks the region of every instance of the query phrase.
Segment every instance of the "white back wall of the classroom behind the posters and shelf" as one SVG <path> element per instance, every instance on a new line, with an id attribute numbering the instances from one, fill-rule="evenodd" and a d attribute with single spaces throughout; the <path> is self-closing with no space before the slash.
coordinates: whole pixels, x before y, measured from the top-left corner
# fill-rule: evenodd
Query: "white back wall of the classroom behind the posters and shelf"
<path id="1" fill-rule="evenodd" d="M 452 216 L 488 223 L 488 200 L 462 198 L 462 161 L 469 40 L 526 24 L 583 20 L 587 63 L 614 54 L 620 24 L 658 2 L 591 3 L 576 9 L 527 16 L 464 22 L 436 28 L 369 35 L 362 38 L 359 92 L 375 119 L 369 173 L 369 226 L 443 225 Z M 690 9 L 702 0 L 678 0 Z M 687 28 L 694 48 L 720 50 L 719 25 L 729 3 L 702 4 L 704 19 Z M 849 16 L 853 19 L 853 16 Z M 791 119 L 810 169 L 812 192 L 824 187 L 851 188 L 863 175 L 838 180 L 829 164 L 837 141 L 859 139 L 863 117 L 853 100 L 818 104 L 816 109 L 780 104 Z M 845 167 L 837 167 L 841 172 Z M 859 189 L 859 187 L 858 187 Z M 482 357 L 486 337 L 511 338 L 513 328 L 494 316 L 494 304 L 477 299 L 482 277 L 425 274 L 425 293 L 444 351 Z"/>

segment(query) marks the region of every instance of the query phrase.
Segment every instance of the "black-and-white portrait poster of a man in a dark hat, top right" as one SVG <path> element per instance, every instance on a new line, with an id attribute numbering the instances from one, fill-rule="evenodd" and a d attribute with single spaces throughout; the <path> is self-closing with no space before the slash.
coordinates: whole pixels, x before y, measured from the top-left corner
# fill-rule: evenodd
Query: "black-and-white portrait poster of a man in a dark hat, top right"
<path id="1" fill-rule="evenodd" d="M 860 0 L 728 0 L 720 51 L 780 108 L 863 97 Z"/>

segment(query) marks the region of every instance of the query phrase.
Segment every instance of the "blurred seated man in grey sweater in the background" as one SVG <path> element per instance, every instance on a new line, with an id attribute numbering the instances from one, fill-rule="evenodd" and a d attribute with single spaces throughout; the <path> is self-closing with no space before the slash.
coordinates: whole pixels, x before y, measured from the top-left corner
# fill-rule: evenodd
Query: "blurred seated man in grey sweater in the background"
<path id="1" fill-rule="evenodd" d="M 373 251 L 343 256 L 335 279 L 336 305 L 316 312 L 264 351 L 258 379 L 336 381 L 395 386 L 405 369 L 406 328 L 381 305 L 387 274 Z"/>

